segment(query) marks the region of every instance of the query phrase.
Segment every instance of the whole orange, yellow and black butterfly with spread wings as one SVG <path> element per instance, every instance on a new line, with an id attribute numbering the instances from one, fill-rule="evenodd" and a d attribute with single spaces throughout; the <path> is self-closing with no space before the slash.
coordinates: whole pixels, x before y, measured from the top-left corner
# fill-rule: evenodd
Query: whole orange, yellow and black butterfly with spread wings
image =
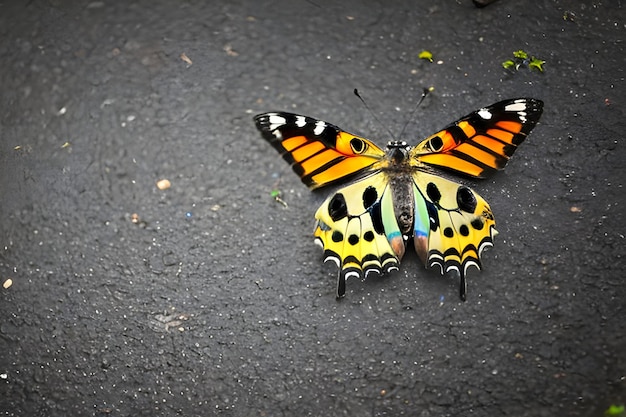
<path id="1" fill-rule="evenodd" d="M 330 123 L 293 113 L 254 117 L 262 136 L 311 189 L 352 181 L 315 213 L 315 242 L 338 268 L 337 298 L 346 280 L 397 270 L 407 246 L 427 268 L 460 276 L 481 268 L 497 234 L 489 204 L 476 191 L 438 175 L 486 178 L 504 168 L 535 127 L 543 102 L 516 98 L 483 107 L 410 146 L 385 149 Z"/>

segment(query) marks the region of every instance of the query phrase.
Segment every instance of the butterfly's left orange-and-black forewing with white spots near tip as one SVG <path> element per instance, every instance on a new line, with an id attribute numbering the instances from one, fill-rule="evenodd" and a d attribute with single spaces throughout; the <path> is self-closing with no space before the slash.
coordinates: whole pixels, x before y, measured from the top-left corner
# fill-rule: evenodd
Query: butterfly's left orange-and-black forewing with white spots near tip
<path id="1" fill-rule="evenodd" d="M 373 142 L 311 117 L 273 112 L 254 120 L 263 137 L 312 189 L 373 169 L 385 155 Z"/>

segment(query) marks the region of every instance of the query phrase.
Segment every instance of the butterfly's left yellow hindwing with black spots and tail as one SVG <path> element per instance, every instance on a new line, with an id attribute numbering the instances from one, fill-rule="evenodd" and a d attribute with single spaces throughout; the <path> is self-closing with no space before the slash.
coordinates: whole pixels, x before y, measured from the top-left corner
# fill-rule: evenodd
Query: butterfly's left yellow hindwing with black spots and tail
<path id="1" fill-rule="evenodd" d="M 378 173 L 337 190 L 315 213 L 315 240 L 324 249 L 324 260 L 340 269 L 338 297 L 344 295 L 348 278 L 398 269 L 402 255 L 392 243 L 402 237 L 391 198 L 387 177 Z"/>

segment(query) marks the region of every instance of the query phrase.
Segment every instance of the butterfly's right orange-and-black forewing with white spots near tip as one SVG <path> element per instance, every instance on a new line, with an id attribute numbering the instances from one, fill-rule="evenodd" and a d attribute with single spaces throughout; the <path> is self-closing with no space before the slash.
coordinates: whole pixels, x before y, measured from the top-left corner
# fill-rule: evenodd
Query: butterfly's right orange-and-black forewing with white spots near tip
<path id="1" fill-rule="evenodd" d="M 470 113 L 411 151 L 421 163 L 485 178 L 504 168 L 539 121 L 541 100 L 500 101 Z"/>

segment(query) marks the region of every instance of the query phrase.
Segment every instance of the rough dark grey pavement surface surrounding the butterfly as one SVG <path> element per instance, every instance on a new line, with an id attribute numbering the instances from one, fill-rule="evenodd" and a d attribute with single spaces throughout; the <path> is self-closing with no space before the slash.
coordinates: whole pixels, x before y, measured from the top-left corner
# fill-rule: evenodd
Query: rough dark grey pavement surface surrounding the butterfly
<path id="1" fill-rule="evenodd" d="M 127 3 L 0 4 L 1 415 L 626 402 L 621 1 Z M 519 49 L 545 71 L 504 70 Z M 384 145 L 428 86 L 403 139 L 503 98 L 545 101 L 506 170 L 473 184 L 495 247 L 465 303 L 414 255 L 338 302 L 311 236 L 326 194 L 252 115 L 297 111 Z"/>

